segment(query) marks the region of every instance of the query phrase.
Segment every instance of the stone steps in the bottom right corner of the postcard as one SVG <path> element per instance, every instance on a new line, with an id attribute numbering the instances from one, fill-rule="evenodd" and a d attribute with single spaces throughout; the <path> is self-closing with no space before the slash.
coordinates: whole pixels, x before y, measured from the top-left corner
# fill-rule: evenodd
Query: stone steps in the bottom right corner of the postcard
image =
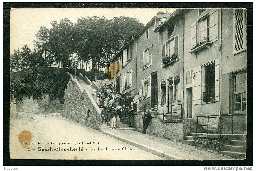
<path id="1" fill-rule="evenodd" d="M 235 135 L 235 140 L 230 140 L 229 145 L 224 146 L 223 151 L 219 154 L 228 155 L 237 159 L 246 157 L 246 135 Z"/>

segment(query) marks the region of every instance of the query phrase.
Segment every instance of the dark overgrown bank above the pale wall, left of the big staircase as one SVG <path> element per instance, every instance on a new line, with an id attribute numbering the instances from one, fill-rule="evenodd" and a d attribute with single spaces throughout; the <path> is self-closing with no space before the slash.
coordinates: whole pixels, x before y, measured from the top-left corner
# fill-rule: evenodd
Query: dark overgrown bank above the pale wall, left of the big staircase
<path id="1" fill-rule="evenodd" d="M 65 70 L 57 68 L 34 67 L 10 74 L 10 92 L 16 101 L 23 97 L 40 99 L 43 94 L 49 94 L 50 100 L 59 99 L 64 103 L 64 94 L 69 76 Z"/>

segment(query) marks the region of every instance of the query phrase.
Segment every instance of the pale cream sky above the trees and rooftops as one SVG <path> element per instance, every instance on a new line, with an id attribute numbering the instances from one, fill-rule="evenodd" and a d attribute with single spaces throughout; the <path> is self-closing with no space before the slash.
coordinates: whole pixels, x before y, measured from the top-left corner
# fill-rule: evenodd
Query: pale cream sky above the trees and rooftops
<path id="1" fill-rule="evenodd" d="M 21 47 L 24 44 L 28 44 L 31 50 L 34 49 L 33 40 L 36 39 L 37 31 L 40 26 L 51 28 L 50 22 L 56 20 L 59 22 L 61 19 L 67 17 L 73 23 L 77 22 L 77 18 L 84 16 L 105 16 L 107 19 L 111 19 L 119 16 L 134 17 L 137 18 L 143 24 L 147 24 L 157 12 L 162 11 L 172 13 L 174 8 L 116 8 L 116 9 L 53 9 L 53 8 L 14 8 L 11 9 L 11 28 L 10 28 L 10 53 L 14 52 L 14 49 Z"/>

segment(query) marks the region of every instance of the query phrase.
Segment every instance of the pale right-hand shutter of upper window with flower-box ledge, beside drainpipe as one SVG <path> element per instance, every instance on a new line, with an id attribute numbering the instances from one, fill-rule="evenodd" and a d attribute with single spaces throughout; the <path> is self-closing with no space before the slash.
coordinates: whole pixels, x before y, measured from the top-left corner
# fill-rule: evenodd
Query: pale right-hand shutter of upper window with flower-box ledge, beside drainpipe
<path id="1" fill-rule="evenodd" d="M 218 9 L 216 8 L 211 9 L 210 11 L 209 25 L 209 40 L 214 42 L 218 40 L 219 36 Z"/>

